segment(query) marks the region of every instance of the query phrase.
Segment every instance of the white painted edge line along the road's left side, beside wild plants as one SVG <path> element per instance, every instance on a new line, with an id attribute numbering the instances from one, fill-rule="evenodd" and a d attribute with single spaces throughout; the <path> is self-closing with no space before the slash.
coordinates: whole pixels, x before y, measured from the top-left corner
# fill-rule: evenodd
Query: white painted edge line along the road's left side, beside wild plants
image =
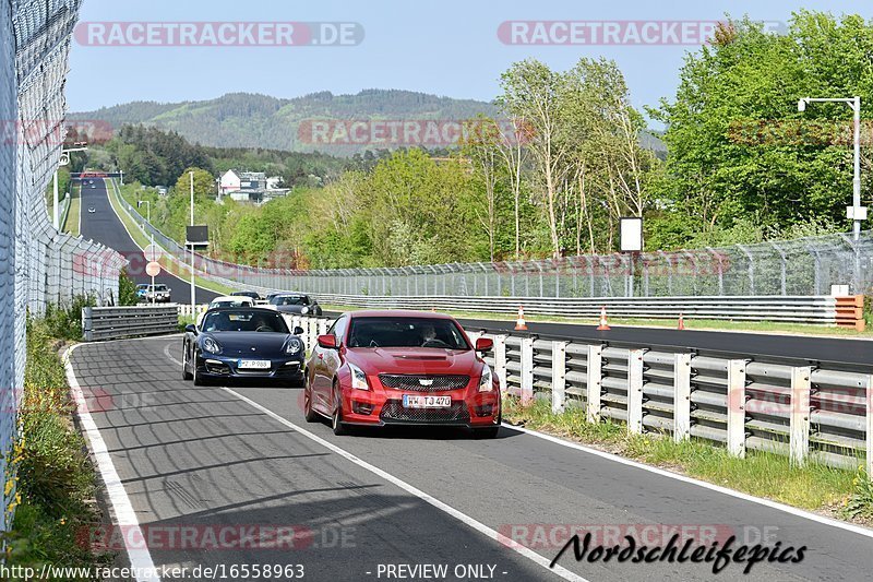
<path id="1" fill-rule="evenodd" d="M 88 440 L 91 452 L 94 455 L 97 468 L 106 485 L 106 492 L 109 496 L 109 502 L 115 513 L 116 525 L 125 530 L 123 535 L 124 549 L 128 553 L 131 567 L 134 568 L 135 572 L 139 574 L 136 577 L 136 582 L 160 582 L 160 578 L 157 575 L 157 570 L 155 569 L 155 563 L 152 561 L 152 554 L 148 551 L 148 547 L 134 547 L 131 545 L 130 541 L 132 538 L 144 539 L 143 532 L 140 528 L 140 522 L 136 519 L 136 512 L 133 510 L 133 504 L 130 502 L 128 492 L 124 490 L 124 484 L 121 483 L 116 466 L 112 464 L 112 458 L 109 454 L 106 442 L 103 440 L 103 435 L 100 435 L 97 424 L 91 416 L 91 411 L 88 411 L 82 387 L 79 384 L 73 365 L 70 363 L 70 356 L 72 356 L 75 348 L 81 345 L 82 344 L 72 345 L 63 354 L 63 366 L 67 371 L 67 381 L 70 383 L 70 391 L 72 392 L 73 401 L 76 405 L 76 415 L 79 416 L 80 423 L 82 423 L 82 429 Z"/>

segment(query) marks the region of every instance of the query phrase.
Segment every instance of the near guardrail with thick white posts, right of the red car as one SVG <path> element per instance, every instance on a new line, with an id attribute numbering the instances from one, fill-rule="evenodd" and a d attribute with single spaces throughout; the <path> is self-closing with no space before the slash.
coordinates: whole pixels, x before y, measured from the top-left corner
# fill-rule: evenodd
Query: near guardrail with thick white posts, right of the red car
<path id="1" fill-rule="evenodd" d="M 294 320 L 308 343 L 331 323 L 328 318 Z M 468 333 L 494 341 L 486 361 L 506 393 L 546 400 L 555 412 L 582 407 L 589 420 L 624 423 L 631 432 L 695 437 L 739 456 L 746 450 L 773 451 L 796 464 L 814 460 L 857 468 L 865 463 L 873 474 L 873 367 Z"/>

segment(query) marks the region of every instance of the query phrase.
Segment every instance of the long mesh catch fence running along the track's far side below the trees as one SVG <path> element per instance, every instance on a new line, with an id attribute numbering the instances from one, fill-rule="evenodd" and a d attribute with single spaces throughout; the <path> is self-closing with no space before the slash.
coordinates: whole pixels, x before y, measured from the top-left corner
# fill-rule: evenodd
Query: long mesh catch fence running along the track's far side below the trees
<path id="1" fill-rule="evenodd" d="M 113 189 L 121 205 L 155 242 L 184 264 L 190 251 L 150 224 Z M 241 265 L 196 254 L 202 274 L 236 284 L 315 294 L 497 297 L 679 297 L 873 293 L 873 231 L 859 240 L 828 235 L 638 254 L 585 254 L 558 260 L 450 263 L 378 269 L 292 270 L 291 254 Z M 848 295 L 848 294 L 847 294 Z"/>

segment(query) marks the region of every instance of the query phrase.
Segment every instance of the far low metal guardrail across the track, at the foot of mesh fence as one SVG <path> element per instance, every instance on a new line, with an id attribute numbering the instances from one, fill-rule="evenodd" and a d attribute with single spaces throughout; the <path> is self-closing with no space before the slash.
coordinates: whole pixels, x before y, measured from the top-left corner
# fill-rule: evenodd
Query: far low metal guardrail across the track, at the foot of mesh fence
<path id="1" fill-rule="evenodd" d="M 785 297 L 407 297 L 318 295 L 323 304 L 374 309 L 439 309 L 596 318 L 606 306 L 610 317 L 837 323 L 837 299 L 830 296 Z"/>

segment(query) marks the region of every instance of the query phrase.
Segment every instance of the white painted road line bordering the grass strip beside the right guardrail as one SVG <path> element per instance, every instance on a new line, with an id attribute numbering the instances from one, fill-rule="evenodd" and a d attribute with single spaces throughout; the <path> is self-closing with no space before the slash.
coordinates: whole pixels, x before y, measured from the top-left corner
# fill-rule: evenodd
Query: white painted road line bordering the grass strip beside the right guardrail
<path id="1" fill-rule="evenodd" d="M 654 467 L 650 465 L 646 465 L 639 463 L 637 461 L 631 461 L 630 459 L 625 459 L 623 456 L 619 456 L 617 454 L 608 453 L 605 451 L 598 451 L 597 449 L 591 449 L 589 447 L 585 447 L 584 444 L 579 444 L 578 442 L 572 442 L 569 440 L 561 439 L 559 437 L 553 437 L 551 435 L 547 435 L 545 432 L 539 432 L 537 430 L 531 430 L 529 428 L 517 427 L 513 425 L 507 425 L 503 423 L 504 428 L 509 428 L 512 430 L 517 430 L 519 432 L 524 432 L 526 435 L 530 435 L 531 437 L 537 437 L 543 440 L 548 440 L 550 442 L 554 442 L 562 447 L 569 447 L 571 449 L 576 449 L 578 451 L 586 452 L 588 454 L 593 454 L 596 456 L 600 456 L 602 459 L 607 459 L 609 461 L 614 461 L 615 463 L 621 463 L 623 465 L 632 466 L 634 468 L 641 468 L 643 471 L 648 471 L 649 473 L 655 473 L 656 475 L 660 475 L 661 477 L 668 477 L 675 480 L 681 480 L 683 483 L 689 483 L 691 485 L 696 485 L 698 487 L 703 487 L 704 489 L 709 489 L 711 491 L 717 491 L 719 494 L 729 495 L 731 497 L 736 497 L 738 499 L 742 499 L 743 501 L 751 501 L 753 503 L 758 503 L 761 506 L 766 506 L 770 509 L 776 509 L 778 511 L 784 511 L 786 513 L 790 513 L 792 515 L 797 515 L 798 518 L 803 518 L 806 520 L 811 520 L 814 522 L 823 523 L 825 525 L 830 525 L 833 527 L 839 527 L 840 530 L 846 530 L 848 532 L 852 532 L 859 535 L 863 535 L 866 537 L 873 537 L 873 530 L 868 527 L 863 527 L 861 525 L 854 525 L 852 523 L 842 522 L 839 520 L 834 520 L 830 518 L 826 518 L 824 515 L 818 515 L 816 513 L 812 513 L 810 511 L 804 511 L 802 509 L 793 508 L 791 506 L 786 506 L 785 503 L 779 503 L 778 501 L 772 501 L 770 499 L 764 499 L 762 497 L 755 497 L 749 494 L 743 494 L 740 491 L 736 491 L 733 489 L 728 489 L 727 487 L 721 487 L 719 485 L 715 485 L 711 483 L 707 483 L 705 480 L 695 479 L 694 477 L 689 477 L 685 475 L 680 475 L 679 473 L 671 473 L 669 471 Z"/>

